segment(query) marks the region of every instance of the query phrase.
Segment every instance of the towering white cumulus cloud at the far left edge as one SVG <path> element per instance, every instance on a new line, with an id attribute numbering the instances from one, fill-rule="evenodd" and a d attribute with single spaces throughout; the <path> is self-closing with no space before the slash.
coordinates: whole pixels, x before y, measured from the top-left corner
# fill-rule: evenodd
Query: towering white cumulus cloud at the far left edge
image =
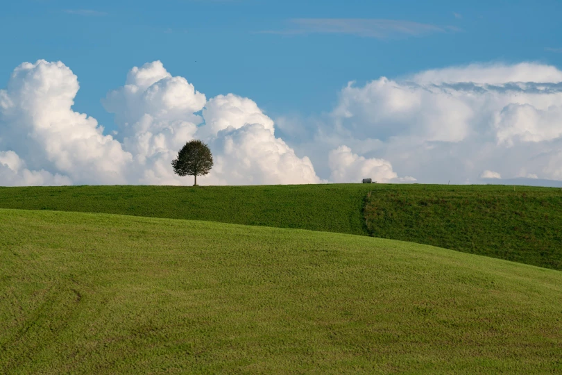
<path id="1" fill-rule="evenodd" d="M 71 109 L 78 79 L 64 64 L 39 60 L 19 65 L 0 92 L 2 148 L 33 168 L 85 183 L 125 182 L 132 156 L 95 119 Z M 9 144 L 8 144 L 9 142 Z"/>

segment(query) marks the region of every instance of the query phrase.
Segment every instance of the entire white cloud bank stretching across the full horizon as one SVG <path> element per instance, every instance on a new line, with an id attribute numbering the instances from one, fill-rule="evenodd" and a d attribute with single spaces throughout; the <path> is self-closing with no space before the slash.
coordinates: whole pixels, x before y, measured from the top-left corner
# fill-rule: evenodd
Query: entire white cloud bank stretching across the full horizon
<path id="1" fill-rule="evenodd" d="M 103 99 L 119 130 L 108 135 L 72 110 L 78 88 L 60 62 L 14 70 L 0 90 L 0 185 L 190 185 L 170 163 L 193 138 L 214 154 L 207 185 L 562 179 L 562 72 L 548 65 L 349 83 L 314 127 L 275 124 L 235 94 L 208 99 L 155 61 Z"/>

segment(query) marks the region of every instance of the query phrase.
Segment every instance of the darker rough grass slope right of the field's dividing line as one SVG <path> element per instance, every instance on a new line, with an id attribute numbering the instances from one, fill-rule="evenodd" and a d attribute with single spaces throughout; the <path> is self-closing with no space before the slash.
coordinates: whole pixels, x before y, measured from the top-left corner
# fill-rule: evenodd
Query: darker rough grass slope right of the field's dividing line
<path id="1" fill-rule="evenodd" d="M 376 185 L 365 215 L 375 237 L 562 269 L 562 189 Z"/>

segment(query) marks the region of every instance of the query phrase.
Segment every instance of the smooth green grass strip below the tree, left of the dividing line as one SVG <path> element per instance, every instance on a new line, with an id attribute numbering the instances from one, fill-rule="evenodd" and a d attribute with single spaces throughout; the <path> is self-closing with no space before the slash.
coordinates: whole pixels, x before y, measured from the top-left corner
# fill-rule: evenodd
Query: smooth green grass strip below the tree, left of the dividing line
<path id="1" fill-rule="evenodd" d="M 370 185 L 0 188 L 0 208 L 114 213 L 368 234 Z"/>

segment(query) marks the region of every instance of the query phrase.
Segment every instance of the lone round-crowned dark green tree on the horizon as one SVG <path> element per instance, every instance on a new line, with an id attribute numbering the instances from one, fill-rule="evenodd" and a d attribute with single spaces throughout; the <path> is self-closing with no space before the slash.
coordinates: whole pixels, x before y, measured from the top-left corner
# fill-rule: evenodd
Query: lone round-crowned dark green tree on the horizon
<path id="1" fill-rule="evenodd" d="M 178 157 L 172 160 L 173 172 L 179 176 L 205 176 L 213 166 L 211 150 L 200 140 L 190 140 L 178 153 Z"/>

